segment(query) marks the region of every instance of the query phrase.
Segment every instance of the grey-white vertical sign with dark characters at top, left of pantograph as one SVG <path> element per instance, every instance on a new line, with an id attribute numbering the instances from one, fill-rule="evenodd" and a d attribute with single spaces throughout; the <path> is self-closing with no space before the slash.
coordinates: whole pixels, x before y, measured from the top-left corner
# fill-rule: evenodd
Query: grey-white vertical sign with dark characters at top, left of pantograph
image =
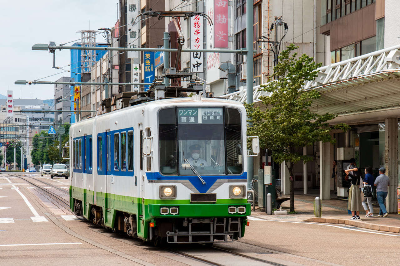
<path id="1" fill-rule="evenodd" d="M 136 20 L 136 23 L 133 24 L 135 18 L 140 14 L 140 9 L 138 8 L 139 2 L 138 0 L 128 0 L 127 1 L 127 16 L 128 16 L 128 47 L 129 48 L 138 48 L 139 47 L 139 24 L 140 17 Z M 139 58 L 138 51 L 128 51 L 128 58 Z"/>

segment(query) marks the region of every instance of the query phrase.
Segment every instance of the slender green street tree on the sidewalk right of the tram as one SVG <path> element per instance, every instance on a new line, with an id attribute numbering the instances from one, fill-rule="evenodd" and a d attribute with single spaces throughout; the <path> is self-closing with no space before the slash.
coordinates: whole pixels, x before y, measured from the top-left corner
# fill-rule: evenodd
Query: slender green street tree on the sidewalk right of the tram
<path id="1" fill-rule="evenodd" d="M 303 54 L 299 58 L 297 53 L 291 52 L 298 47 L 290 44 L 279 56 L 279 62 L 274 67 L 275 79 L 261 90 L 269 93 L 269 97 L 260 96 L 265 110 L 246 105 L 248 111 L 248 135 L 260 137 L 260 147 L 268 149 L 276 163 L 285 163 L 290 173 L 290 212 L 294 212 L 294 165 L 298 161 L 306 163 L 312 158 L 301 155 L 297 151 L 302 147 L 313 145 L 315 142 L 335 143 L 330 130 L 348 129 L 347 125 L 329 126 L 328 121 L 336 116 L 326 113 L 318 115 L 310 111 L 314 99 L 320 97 L 316 90 L 303 90 L 306 81 L 314 80 L 316 64 L 313 58 Z M 272 76 L 270 77 L 272 79 Z"/>

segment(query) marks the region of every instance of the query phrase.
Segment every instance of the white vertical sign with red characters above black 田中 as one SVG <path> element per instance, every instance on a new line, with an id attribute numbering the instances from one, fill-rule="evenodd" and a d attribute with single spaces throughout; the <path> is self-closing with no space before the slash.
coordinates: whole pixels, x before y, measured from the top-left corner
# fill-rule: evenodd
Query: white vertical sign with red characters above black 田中
<path id="1" fill-rule="evenodd" d="M 200 15 L 190 18 L 190 49 L 203 49 L 204 42 L 204 20 Z M 203 53 L 190 53 L 190 67 L 192 72 L 203 72 Z"/>

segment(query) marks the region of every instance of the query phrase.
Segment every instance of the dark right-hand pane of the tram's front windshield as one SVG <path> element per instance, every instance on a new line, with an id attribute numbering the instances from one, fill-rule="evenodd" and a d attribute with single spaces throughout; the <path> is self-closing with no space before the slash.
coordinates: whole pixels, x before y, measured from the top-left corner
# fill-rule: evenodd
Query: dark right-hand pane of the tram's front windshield
<path id="1" fill-rule="evenodd" d="M 226 161 L 228 173 L 243 172 L 241 114 L 238 109 L 225 108 Z M 245 147 L 246 148 L 246 147 Z"/>

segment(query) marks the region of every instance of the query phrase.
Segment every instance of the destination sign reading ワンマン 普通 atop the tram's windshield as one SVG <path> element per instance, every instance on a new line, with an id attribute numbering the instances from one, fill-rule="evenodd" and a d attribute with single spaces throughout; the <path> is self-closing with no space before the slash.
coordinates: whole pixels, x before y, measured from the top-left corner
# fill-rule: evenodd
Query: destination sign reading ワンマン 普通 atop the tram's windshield
<path id="1" fill-rule="evenodd" d="M 222 108 L 178 108 L 178 124 L 222 124 Z"/>

